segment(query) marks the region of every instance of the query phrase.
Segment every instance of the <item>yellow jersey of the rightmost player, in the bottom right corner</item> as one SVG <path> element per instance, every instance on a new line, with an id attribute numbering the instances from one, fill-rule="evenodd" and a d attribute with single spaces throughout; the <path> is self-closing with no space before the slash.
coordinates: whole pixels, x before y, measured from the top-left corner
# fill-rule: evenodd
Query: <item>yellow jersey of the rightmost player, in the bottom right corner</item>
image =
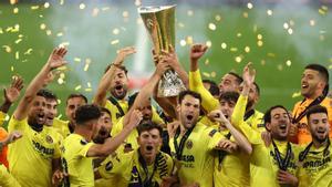
<path id="1" fill-rule="evenodd" d="M 300 187 L 332 186 L 331 152 L 331 145 L 320 148 L 315 148 L 313 145 L 310 146 L 307 156 L 301 162 Z"/>

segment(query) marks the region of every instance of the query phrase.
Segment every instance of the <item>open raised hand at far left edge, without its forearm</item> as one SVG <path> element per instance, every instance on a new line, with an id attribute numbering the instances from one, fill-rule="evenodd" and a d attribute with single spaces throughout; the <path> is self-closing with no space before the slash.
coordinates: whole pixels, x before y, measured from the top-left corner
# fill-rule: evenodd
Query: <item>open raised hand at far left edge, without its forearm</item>
<path id="1" fill-rule="evenodd" d="M 20 92 L 23 89 L 23 79 L 21 76 L 13 76 L 10 87 L 3 90 L 4 100 L 9 103 L 15 102 Z"/>

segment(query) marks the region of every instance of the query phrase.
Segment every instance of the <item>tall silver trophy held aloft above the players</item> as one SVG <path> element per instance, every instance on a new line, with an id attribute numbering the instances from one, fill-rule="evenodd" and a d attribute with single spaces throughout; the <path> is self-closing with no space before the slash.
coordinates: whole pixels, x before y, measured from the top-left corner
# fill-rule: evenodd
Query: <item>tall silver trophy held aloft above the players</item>
<path id="1" fill-rule="evenodd" d="M 141 7 L 138 12 L 157 54 L 169 51 L 169 45 L 175 48 L 175 6 Z M 160 97 L 177 96 L 184 90 L 185 84 L 174 70 L 167 70 L 158 83 Z"/>

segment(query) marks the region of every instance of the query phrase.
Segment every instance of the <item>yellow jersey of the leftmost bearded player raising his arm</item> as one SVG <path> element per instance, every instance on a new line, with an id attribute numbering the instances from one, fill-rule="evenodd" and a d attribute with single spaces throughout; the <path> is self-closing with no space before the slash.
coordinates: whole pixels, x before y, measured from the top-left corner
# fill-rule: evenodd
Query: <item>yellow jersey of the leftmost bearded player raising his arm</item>
<path id="1" fill-rule="evenodd" d="M 51 186 L 52 159 L 60 158 L 62 136 L 53 127 L 35 132 L 28 120 L 11 117 L 9 133 L 20 131 L 22 137 L 9 145 L 9 170 L 22 187 Z"/>

